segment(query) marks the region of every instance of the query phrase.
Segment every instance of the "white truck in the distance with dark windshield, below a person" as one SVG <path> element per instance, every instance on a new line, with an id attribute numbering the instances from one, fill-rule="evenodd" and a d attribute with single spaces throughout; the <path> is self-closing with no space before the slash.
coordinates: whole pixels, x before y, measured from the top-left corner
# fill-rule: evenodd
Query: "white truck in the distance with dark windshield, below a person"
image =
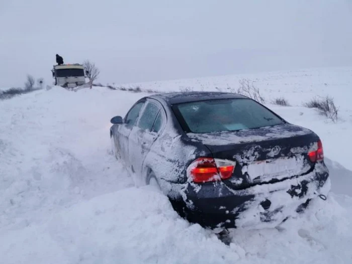
<path id="1" fill-rule="evenodd" d="M 84 67 L 81 64 L 54 65 L 51 71 L 55 85 L 74 88 L 85 84 Z"/>

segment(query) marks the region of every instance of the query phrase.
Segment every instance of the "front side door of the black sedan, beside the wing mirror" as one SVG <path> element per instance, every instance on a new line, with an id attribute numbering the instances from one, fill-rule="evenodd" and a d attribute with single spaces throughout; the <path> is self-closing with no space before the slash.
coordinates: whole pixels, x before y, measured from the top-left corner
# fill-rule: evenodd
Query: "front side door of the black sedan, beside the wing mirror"
<path id="1" fill-rule="evenodd" d="M 128 137 L 131 134 L 132 128 L 135 126 L 138 119 L 139 113 L 145 103 L 145 100 L 136 102 L 131 109 L 128 111 L 124 118 L 124 122 L 119 125 L 118 137 L 115 138 L 117 143 L 118 152 L 120 153 L 121 159 L 128 165 Z"/>

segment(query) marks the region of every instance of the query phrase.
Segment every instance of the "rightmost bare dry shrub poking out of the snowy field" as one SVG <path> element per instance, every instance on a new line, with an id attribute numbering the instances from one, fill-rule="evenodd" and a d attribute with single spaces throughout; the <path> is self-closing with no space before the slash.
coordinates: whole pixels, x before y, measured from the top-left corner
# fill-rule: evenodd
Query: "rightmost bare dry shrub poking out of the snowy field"
<path id="1" fill-rule="evenodd" d="M 325 115 L 333 122 L 336 122 L 338 119 L 338 107 L 336 107 L 334 99 L 331 96 L 315 97 L 303 105 L 308 108 L 317 108 L 320 114 Z"/>

